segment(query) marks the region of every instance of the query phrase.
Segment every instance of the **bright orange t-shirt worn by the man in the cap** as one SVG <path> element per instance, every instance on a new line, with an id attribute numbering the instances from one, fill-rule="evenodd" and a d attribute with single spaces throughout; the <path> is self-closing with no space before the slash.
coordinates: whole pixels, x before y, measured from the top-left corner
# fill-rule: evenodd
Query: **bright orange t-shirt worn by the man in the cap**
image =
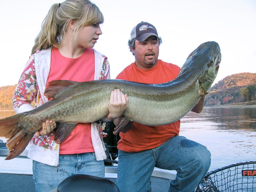
<path id="1" fill-rule="evenodd" d="M 116 79 L 139 83 L 160 84 L 172 81 L 180 72 L 180 67 L 172 63 L 158 60 L 157 64 L 149 69 L 142 70 L 135 63 L 126 67 Z M 129 95 L 128 95 L 129 97 Z M 126 133 L 120 133 L 118 149 L 126 152 L 139 152 L 160 146 L 165 141 L 178 135 L 180 120 L 167 125 L 148 126 L 133 122 L 132 128 Z"/>

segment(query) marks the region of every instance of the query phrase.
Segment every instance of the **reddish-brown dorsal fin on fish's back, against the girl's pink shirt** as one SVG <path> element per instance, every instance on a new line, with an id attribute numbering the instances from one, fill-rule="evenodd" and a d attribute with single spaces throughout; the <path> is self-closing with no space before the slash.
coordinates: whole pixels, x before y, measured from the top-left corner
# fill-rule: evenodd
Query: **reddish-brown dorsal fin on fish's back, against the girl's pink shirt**
<path id="1" fill-rule="evenodd" d="M 48 98 L 49 97 L 54 98 L 61 91 L 77 83 L 78 82 L 76 81 L 68 81 L 68 80 L 50 81 L 44 90 L 44 95 Z"/>

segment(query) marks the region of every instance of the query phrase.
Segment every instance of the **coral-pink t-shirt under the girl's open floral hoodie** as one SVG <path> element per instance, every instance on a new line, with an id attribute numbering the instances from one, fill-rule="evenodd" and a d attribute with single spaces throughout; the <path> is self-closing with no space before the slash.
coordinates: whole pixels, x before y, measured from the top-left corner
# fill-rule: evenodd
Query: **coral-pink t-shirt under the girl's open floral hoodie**
<path id="1" fill-rule="evenodd" d="M 71 59 L 60 54 L 53 47 L 51 68 L 47 84 L 52 80 L 70 80 L 77 82 L 94 80 L 94 51 L 85 49 L 78 58 Z M 91 123 L 77 124 L 71 134 L 60 144 L 60 154 L 77 154 L 93 152 Z"/>

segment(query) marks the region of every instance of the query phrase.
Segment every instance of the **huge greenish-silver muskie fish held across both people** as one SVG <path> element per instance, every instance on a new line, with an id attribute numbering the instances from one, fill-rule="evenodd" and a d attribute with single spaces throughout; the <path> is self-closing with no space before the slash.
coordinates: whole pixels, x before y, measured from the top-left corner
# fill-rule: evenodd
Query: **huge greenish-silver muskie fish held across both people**
<path id="1" fill-rule="evenodd" d="M 54 99 L 28 112 L 0 120 L 0 136 L 9 138 L 12 159 L 26 148 L 43 122 L 57 123 L 55 142 L 65 140 L 77 123 L 97 121 L 108 115 L 110 93 L 120 89 L 129 97 L 124 116 L 145 125 L 164 125 L 185 116 L 209 93 L 220 65 L 220 47 L 205 42 L 193 51 L 181 67 L 179 76 L 163 84 L 142 84 L 125 80 L 73 82 L 57 80 L 49 83 L 44 95 Z"/>

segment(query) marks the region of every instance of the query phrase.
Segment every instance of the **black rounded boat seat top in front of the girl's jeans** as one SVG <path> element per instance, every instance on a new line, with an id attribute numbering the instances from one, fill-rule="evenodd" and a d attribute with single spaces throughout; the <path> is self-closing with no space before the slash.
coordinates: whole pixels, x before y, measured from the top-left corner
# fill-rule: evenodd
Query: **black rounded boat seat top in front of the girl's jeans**
<path id="1" fill-rule="evenodd" d="M 64 179 L 50 192 L 120 192 L 111 180 L 83 174 L 75 174 Z"/>

